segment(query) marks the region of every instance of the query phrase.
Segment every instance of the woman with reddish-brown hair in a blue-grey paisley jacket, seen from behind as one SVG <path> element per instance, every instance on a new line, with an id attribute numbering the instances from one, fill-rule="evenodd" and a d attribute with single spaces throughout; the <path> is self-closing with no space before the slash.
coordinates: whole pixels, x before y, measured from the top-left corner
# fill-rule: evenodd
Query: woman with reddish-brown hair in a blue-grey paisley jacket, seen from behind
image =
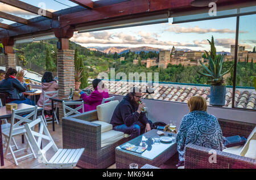
<path id="1" fill-rule="evenodd" d="M 184 165 L 185 146 L 188 143 L 220 151 L 224 149 L 221 127 L 217 118 L 207 113 L 205 98 L 191 97 L 188 107 L 190 113 L 184 115 L 176 137 L 177 151 L 179 152 L 177 166 Z"/>

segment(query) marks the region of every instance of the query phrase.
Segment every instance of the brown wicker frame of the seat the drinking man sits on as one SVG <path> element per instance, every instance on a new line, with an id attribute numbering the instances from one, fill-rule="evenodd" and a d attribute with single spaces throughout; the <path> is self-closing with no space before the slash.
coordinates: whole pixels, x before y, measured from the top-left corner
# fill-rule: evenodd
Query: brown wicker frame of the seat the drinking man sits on
<path id="1" fill-rule="evenodd" d="M 130 138 L 101 147 L 101 125 L 97 110 L 63 118 L 63 148 L 85 148 L 77 166 L 81 168 L 108 168 L 115 163 L 115 147 Z"/>

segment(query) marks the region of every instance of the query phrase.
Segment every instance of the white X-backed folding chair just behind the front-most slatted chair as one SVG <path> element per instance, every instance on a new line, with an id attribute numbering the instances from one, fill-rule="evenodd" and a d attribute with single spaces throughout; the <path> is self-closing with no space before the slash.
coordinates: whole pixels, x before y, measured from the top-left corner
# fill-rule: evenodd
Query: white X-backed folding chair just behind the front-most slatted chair
<path id="1" fill-rule="evenodd" d="M 20 160 L 21 158 L 28 157 L 28 156 L 34 156 L 34 158 L 36 158 L 34 149 L 32 149 L 31 144 L 27 138 L 26 130 L 23 125 L 22 126 L 20 126 L 20 125 L 22 123 L 30 123 L 30 122 L 34 121 L 36 119 L 37 112 L 38 112 L 38 106 L 35 106 L 33 108 L 26 108 L 26 109 L 17 109 L 17 110 L 13 109 L 13 112 L 11 114 L 11 127 L 5 128 L 2 130 L 2 134 L 3 134 L 3 136 L 5 136 L 5 139 L 7 140 L 7 145 L 6 145 L 6 150 L 5 150 L 4 156 L 6 157 L 7 155 L 11 154 L 13 156 L 15 164 L 17 166 L 18 166 L 18 160 Z M 26 114 L 26 113 L 30 113 L 30 114 L 27 114 L 26 117 L 22 117 L 22 115 L 18 115 L 18 114 Z M 32 120 L 29 118 L 32 118 Z M 18 119 L 18 122 L 14 123 L 15 119 Z M 26 148 L 16 149 L 14 151 L 13 145 L 11 145 L 11 142 L 13 141 L 14 136 L 18 136 L 18 135 L 24 135 L 26 137 L 28 144 L 27 144 Z M 13 143 L 14 143 L 14 141 L 13 141 Z M 27 152 L 28 147 L 30 148 L 32 153 L 16 158 L 15 153 L 23 151 L 23 150 L 24 150 L 24 152 Z M 10 152 L 9 152 L 9 149 L 10 149 Z"/>

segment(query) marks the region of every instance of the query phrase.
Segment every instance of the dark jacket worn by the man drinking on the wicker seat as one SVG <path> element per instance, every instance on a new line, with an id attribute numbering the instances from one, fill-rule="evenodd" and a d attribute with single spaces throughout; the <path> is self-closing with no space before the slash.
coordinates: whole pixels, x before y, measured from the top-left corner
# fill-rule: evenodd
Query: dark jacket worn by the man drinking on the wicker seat
<path id="1" fill-rule="evenodd" d="M 138 105 L 132 105 L 129 95 L 126 95 L 115 108 L 110 123 L 113 125 L 113 127 L 123 124 L 129 127 L 138 121 L 146 125 L 146 123 L 148 123 L 146 113 L 141 112 L 141 114 L 139 114 L 137 110 Z"/>

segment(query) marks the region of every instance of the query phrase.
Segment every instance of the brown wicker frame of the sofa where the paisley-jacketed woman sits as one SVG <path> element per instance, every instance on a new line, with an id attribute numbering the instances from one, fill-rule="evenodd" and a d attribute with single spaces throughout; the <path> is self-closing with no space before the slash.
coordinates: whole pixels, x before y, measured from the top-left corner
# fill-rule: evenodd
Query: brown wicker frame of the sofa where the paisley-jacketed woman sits
<path id="1" fill-rule="evenodd" d="M 218 119 L 222 134 L 225 137 L 240 135 L 248 138 L 255 128 L 253 123 L 230 121 L 228 119 Z M 256 160 L 253 158 L 234 155 L 228 152 L 216 151 L 216 163 L 209 163 L 210 149 L 189 143 L 185 147 L 185 169 L 256 169 Z"/>

